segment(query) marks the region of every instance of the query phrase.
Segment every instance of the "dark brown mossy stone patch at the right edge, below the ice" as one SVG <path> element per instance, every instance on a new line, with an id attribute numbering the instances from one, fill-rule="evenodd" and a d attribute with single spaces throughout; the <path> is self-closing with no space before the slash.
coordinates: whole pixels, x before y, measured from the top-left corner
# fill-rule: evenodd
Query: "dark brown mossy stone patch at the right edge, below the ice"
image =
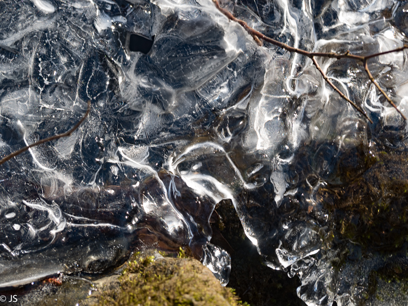
<path id="1" fill-rule="evenodd" d="M 370 151 L 357 158 L 364 158 L 360 166 L 365 169 L 359 171 L 353 163 L 347 164 L 355 156 L 345 156 L 338 165 L 341 184 L 320 188 L 317 200 L 333 214 L 341 237 L 363 249 L 393 251 L 408 237 L 408 152 Z"/>

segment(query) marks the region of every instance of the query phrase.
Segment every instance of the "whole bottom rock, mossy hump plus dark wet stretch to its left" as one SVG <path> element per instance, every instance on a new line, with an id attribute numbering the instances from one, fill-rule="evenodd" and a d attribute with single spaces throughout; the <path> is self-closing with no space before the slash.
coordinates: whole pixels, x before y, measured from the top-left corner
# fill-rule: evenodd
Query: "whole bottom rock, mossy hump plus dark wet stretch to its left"
<path id="1" fill-rule="evenodd" d="M 165 257 L 162 256 L 165 255 Z M 89 278 L 89 277 L 88 277 Z M 168 257 L 156 250 L 132 256 L 122 267 L 98 279 L 59 276 L 36 286 L 4 292 L 16 295 L 20 305 L 214 305 L 242 303 L 214 274 L 184 251 Z"/>

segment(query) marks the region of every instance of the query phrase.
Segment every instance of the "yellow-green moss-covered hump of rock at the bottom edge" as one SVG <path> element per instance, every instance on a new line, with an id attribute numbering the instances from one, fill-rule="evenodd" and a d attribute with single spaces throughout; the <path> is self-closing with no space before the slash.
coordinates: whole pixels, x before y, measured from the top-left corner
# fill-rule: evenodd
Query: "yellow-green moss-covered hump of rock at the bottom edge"
<path id="1" fill-rule="evenodd" d="M 156 253 L 157 254 L 157 253 Z M 192 258 L 137 253 L 122 275 L 95 282 L 96 291 L 80 305 L 242 305 L 213 273 Z"/>

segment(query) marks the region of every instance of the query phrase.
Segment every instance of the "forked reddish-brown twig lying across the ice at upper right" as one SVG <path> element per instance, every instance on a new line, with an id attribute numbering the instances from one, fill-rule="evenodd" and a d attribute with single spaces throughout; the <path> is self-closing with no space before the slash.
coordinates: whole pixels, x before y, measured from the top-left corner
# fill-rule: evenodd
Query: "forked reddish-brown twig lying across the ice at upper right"
<path id="1" fill-rule="evenodd" d="M 309 52 L 307 50 L 303 50 L 303 49 L 299 49 L 299 48 L 295 48 L 292 47 L 286 43 L 277 41 L 273 38 L 270 38 L 268 36 L 265 36 L 264 34 L 262 34 L 261 32 L 258 32 L 257 30 L 249 27 L 248 23 L 246 23 L 245 21 L 236 18 L 233 14 L 231 14 L 229 11 L 223 9 L 220 7 L 218 0 L 213 0 L 216 8 L 222 13 L 224 14 L 228 19 L 235 21 L 237 23 L 239 23 L 248 33 L 249 35 L 251 35 L 256 42 L 258 44 L 259 43 L 259 39 L 262 39 L 266 42 L 269 42 L 279 48 L 285 49 L 289 52 L 292 53 L 297 53 L 303 56 L 306 56 L 308 58 L 310 58 L 313 61 L 313 64 L 316 66 L 317 70 L 319 70 L 320 74 L 322 75 L 323 79 L 335 90 L 337 91 L 340 96 L 345 99 L 348 103 L 350 103 L 357 111 L 359 111 L 361 114 L 363 114 L 371 123 L 371 119 L 368 118 L 367 114 L 361 109 L 359 108 L 355 103 L 353 103 L 353 101 L 351 101 L 349 98 L 347 98 L 341 91 L 339 88 L 336 87 L 336 85 L 334 85 L 332 82 L 330 82 L 330 80 L 328 79 L 327 75 L 324 73 L 324 71 L 320 68 L 319 64 L 317 63 L 315 57 L 325 57 L 325 58 L 335 58 L 335 59 L 353 59 L 356 61 L 361 61 L 364 65 L 364 69 L 367 72 L 368 78 L 370 79 L 370 81 L 374 84 L 374 86 L 380 91 L 380 93 L 387 99 L 387 101 L 396 109 L 396 111 L 402 116 L 402 118 L 404 120 L 406 120 L 406 117 L 402 114 L 402 112 L 396 107 L 396 105 L 393 103 L 393 101 L 391 100 L 391 98 L 386 94 L 386 92 L 384 90 L 381 89 L 381 87 L 378 85 L 378 83 L 374 80 L 370 70 L 368 69 L 367 66 L 367 60 L 374 58 L 374 57 L 378 57 L 381 55 L 385 55 L 385 54 L 389 54 L 389 53 L 394 53 L 394 52 L 400 52 L 404 49 L 408 49 L 408 45 L 404 44 L 402 47 L 393 49 L 393 50 L 388 50 L 385 52 L 380 52 L 380 53 L 376 53 L 376 54 L 370 54 L 367 56 L 360 56 L 360 55 L 354 55 L 351 54 L 350 51 L 347 50 L 347 52 L 343 53 L 343 54 L 339 54 L 339 53 L 320 53 L 320 52 Z"/>

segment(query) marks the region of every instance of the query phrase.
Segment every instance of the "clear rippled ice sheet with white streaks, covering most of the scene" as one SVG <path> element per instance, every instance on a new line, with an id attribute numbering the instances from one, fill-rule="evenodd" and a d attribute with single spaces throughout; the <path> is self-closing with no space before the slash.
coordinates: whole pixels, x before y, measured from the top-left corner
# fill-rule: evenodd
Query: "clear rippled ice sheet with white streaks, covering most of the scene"
<path id="1" fill-rule="evenodd" d="M 317 52 L 407 43 L 408 2 L 222 1 L 254 29 Z M 403 305 L 407 125 L 362 65 L 260 47 L 209 0 L 0 2 L 3 156 L 0 287 L 99 273 L 144 245 L 191 249 L 225 284 L 210 244 L 231 199 L 268 266 L 308 305 Z M 131 35 L 154 36 L 148 54 Z M 408 115 L 407 53 L 369 61 Z M 390 272 L 391 271 L 391 272 Z M 404 289 L 405 288 L 405 289 Z"/>

